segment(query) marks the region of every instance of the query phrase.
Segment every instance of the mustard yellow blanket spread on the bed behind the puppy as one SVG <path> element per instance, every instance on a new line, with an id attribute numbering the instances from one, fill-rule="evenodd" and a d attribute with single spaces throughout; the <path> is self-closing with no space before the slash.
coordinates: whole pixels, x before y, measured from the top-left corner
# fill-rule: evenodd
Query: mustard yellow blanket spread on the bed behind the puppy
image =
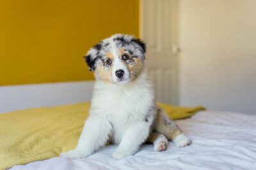
<path id="1" fill-rule="evenodd" d="M 173 119 L 204 110 L 157 104 Z M 75 148 L 89 109 L 90 103 L 79 103 L 1 114 L 0 169 L 49 159 Z"/>

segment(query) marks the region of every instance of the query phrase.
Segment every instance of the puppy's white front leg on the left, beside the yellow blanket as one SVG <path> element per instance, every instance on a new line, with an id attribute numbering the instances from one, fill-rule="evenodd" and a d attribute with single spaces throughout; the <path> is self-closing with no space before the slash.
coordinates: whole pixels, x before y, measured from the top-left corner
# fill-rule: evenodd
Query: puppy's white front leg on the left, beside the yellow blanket
<path id="1" fill-rule="evenodd" d="M 111 131 L 112 127 L 108 120 L 93 116 L 88 117 L 77 147 L 70 152 L 61 153 L 60 156 L 71 159 L 86 158 L 99 149 L 100 146 L 105 145 Z"/>

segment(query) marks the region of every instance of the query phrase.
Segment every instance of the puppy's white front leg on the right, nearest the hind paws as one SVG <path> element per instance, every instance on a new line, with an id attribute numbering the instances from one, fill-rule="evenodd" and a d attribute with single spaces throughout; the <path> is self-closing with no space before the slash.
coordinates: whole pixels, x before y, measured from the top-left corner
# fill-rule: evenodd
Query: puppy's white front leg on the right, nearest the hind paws
<path id="1" fill-rule="evenodd" d="M 147 139 L 149 131 L 149 121 L 138 121 L 129 125 L 122 136 L 118 148 L 113 153 L 113 157 L 122 159 L 128 155 L 133 155 L 139 149 L 140 145 Z"/>

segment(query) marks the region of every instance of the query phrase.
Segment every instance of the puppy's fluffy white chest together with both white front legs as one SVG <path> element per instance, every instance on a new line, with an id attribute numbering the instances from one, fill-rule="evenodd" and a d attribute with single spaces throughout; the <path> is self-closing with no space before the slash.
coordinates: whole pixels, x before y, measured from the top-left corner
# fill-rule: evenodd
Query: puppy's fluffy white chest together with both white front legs
<path id="1" fill-rule="evenodd" d="M 148 115 L 148 122 L 145 117 L 151 106 L 154 106 L 154 90 L 145 70 L 136 80 L 122 85 L 97 81 L 90 117 L 77 147 L 61 156 L 88 157 L 108 139 L 119 144 L 113 153 L 116 159 L 134 154 L 148 137 L 154 115 Z"/>

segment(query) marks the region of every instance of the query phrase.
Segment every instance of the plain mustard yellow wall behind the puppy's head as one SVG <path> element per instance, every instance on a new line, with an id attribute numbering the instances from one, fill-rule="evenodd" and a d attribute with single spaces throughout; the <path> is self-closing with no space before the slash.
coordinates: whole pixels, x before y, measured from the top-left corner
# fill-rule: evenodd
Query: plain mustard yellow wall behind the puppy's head
<path id="1" fill-rule="evenodd" d="M 138 0 L 0 0 L 0 85 L 92 80 L 83 55 L 139 34 Z"/>

